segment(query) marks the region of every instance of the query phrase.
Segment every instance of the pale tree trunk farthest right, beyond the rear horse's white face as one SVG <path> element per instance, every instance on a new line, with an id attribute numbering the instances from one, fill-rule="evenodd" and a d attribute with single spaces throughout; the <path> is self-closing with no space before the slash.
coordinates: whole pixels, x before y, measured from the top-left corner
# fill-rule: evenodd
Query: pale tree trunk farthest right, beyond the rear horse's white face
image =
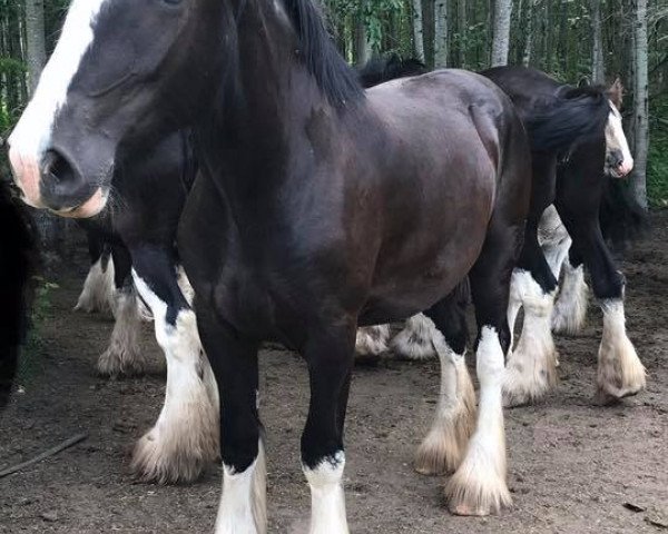
<path id="1" fill-rule="evenodd" d="M 649 145 L 648 125 L 648 73 L 647 73 L 647 0 L 633 2 L 635 67 L 633 122 L 635 122 L 635 166 L 631 174 L 631 188 L 636 200 L 647 208 L 647 148 Z"/>

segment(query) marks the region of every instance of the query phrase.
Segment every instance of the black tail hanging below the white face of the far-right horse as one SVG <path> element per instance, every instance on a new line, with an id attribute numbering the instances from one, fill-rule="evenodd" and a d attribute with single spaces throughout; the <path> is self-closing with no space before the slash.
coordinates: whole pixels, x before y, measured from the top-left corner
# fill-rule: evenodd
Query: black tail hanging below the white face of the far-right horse
<path id="1" fill-rule="evenodd" d="M 605 239 L 616 251 L 646 237 L 650 230 L 649 216 L 631 196 L 623 180 L 606 178 L 599 220 Z"/>

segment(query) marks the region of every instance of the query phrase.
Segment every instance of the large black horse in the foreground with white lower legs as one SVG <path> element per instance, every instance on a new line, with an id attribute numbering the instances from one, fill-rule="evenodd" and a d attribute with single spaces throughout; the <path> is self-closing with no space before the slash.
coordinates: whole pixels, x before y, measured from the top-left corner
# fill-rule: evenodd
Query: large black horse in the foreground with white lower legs
<path id="1" fill-rule="evenodd" d="M 355 329 L 430 308 L 466 274 L 482 423 L 453 495 L 475 510 L 508 502 L 505 310 L 530 196 L 529 147 L 508 98 L 463 71 L 364 95 L 310 0 L 101 6 L 72 3 L 59 43 L 70 68 L 57 49 L 10 158 L 28 201 L 91 216 L 128 147 L 193 127 L 200 172 L 178 250 L 222 395 L 217 531 L 266 528 L 261 340 L 307 360 L 312 532 L 347 532 L 341 479 Z M 155 314 L 164 300 L 135 281 Z M 169 322 L 190 317 L 184 307 Z"/>

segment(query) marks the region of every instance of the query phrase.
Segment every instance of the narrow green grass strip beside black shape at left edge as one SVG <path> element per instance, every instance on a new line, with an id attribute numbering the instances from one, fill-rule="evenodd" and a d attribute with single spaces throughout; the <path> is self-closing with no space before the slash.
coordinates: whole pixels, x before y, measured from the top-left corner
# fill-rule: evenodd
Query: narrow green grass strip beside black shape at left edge
<path id="1" fill-rule="evenodd" d="M 32 300 L 32 314 L 30 315 L 30 329 L 21 357 L 17 383 L 30 384 L 42 369 L 43 340 L 41 337 L 45 322 L 51 315 L 51 293 L 58 288 L 57 284 L 46 280 L 40 276 L 33 277 L 35 298 Z"/>

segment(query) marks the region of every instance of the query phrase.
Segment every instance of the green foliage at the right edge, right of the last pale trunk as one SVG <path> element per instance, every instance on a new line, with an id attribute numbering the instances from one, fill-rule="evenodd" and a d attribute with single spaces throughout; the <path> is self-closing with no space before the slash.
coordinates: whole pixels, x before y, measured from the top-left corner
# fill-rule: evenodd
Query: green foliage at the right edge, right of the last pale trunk
<path id="1" fill-rule="evenodd" d="M 647 196 L 652 206 L 668 208 L 668 95 L 651 100 Z"/>

